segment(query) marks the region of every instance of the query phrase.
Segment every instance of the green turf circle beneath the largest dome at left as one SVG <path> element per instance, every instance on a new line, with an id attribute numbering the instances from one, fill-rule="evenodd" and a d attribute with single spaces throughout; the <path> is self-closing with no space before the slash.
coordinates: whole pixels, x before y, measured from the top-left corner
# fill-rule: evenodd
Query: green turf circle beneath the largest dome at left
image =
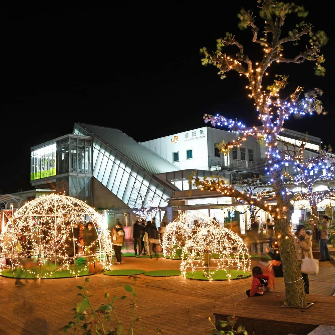
<path id="1" fill-rule="evenodd" d="M 49 269 L 48 267 L 42 267 L 41 279 L 82 277 L 82 276 L 88 276 L 88 275 L 94 274 L 94 273 L 88 273 L 88 266 L 86 267 L 86 269 L 84 269 L 85 266 L 86 264 L 76 264 L 75 270 L 74 270 L 76 272 L 75 275 L 73 275 L 72 272 L 70 272 L 70 270 L 58 270 L 54 272 L 51 276 L 50 274 L 47 274 L 47 273 L 52 272 L 53 269 L 50 269 L 50 266 L 49 266 Z M 29 267 L 27 270 L 31 272 L 35 272 L 36 274 L 40 274 L 40 271 L 41 271 L 39 266 L 32 266 L 32 267 Z M 24 271 L 21 268 L 14 269 L 14 276 L 13 276 L 12 269 L 3 270 L 2 272 L 0 272 L 0 275 L 3 277 L 7 277 L 7 278 L 17 278 L 17 279 L 36 279 L 37 278 L 35 274 L 30 273 L 28 271 Z"/>

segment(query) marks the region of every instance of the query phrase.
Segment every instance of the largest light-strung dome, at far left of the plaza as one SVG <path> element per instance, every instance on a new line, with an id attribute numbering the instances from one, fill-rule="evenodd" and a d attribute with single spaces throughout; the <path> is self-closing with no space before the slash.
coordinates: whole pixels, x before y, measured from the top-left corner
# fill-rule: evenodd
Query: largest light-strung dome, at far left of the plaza
<path id="1" fill-rule="evenodd" d="M 82 229 L 87 222 L 92 229 Z M 85 254 L 80 244 L 85 236 Z M 86 203 L 50 194 L 17 210 L 0 234 L 2 276 L 55 278 L 87 275 L 95 262 L 98 272 L 110 268 L 112 243 L 103 215 Z M 91 271 L 92 272 L 92 271 Z"/>

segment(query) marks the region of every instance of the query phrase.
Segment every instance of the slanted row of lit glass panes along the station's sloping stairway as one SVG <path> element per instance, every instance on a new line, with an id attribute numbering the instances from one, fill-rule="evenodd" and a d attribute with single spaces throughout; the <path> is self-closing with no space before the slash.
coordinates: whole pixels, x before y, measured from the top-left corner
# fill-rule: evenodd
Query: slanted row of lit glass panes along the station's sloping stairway
<path id="1" fill-rule="evenodd" d="M 74 133 L 88 135 L 78 126 L 75 127 Z M 165 207 L 168 205 L 167 198 L 172 196 L 169 189 L 95 137 L 93 137 L 93 177 L 130 208 L 147 206 L 148 203 L 152 207 Z M 75 185 L 73 189 L 74 187 Z"/>

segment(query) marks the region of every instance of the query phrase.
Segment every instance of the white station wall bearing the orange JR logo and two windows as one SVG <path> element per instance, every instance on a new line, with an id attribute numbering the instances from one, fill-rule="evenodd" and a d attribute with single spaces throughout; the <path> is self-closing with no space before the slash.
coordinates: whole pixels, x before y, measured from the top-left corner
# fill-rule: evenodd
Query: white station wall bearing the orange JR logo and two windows
<path id="1" fill-rule="evenodd" d="M 210 170 L 208 166 L 207 127 L 185 131 L 142 142 L 157 155 L 179 167 L 180 170 Z M 192 150 L 192 158 L 190 157 Z M 176 153 L 178 152 L 178 160 Z"/>

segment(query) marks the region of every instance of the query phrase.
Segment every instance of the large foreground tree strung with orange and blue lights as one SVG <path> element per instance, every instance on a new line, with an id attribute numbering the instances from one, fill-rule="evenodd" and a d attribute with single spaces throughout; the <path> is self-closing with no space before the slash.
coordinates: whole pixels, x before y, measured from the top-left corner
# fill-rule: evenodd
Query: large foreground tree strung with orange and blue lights
<path id="1" fill-rule="evenodd" d="M 292 30 L 283 29 L 287 16 L 296 15 L 297 21 Z M 304 18 L 308 12 L 303 6 L 294 3 L 284 3 L 275 0 L 263 0 L 259 4 L 259 20 L 264 20 L 264 27 L 261 28 L 262 36 L 259 37 L 259 27 L 256 25 L 256 18 L 253 13 L 242 9 L 239 14 L 239 28 L 252 30 L 252 42 L 255 48 L 260 48 L 263 56 L 260 60 L 252 60 L 244 50 L 244 46 L 237 41 L 234 35 L 229 32 L 224 38 L 217 40 L 217 50 L 213 53 L 202 48 L 204 54 L 203 65 L 212 64 L 218 69 L 221 78 L 226 77 L 229 71 L 235 71 L 247 81 L 246 88 L 250 91 L 249 97 L 255 102 L 255 107 L 261 123 L 260 127 L 247 127 L 236 119 L 229 119 L 224 116 L 205 115 L 205 122 L 210 122 L 212 126 L 224 126 L 230 131 L 239 135 L 236 140 L 228 143 L 221 143 L 221 152 L 228 153 L 233 147 L 241 145 L 248 136 L 257 140 L 264 140 L 268 148 L 267 157 L 270 181 L 276 195 L 277 204 L 270 206 L 261 201 L 257 196 L 253 197 L 249 193 L 239 192 L 231 186 L 225 186 L 219 180 L 197 181 L 199 186 L 209 190 L 221 192 L 225 196 L 243 199 L 247 203 L 268 211 L 275 219 L 276 235 L 281 251 L 284 280 L 286 287 L 286 302 L 289 306 L 306 306 L 306 296 L 304 293 L 303 281 L 299 263 L 294 252 L 294 243 L 290 230 L 290 217 L 293 212 L 293 205 L 289 201 L 289 196 L 283 180 L 282 159 L 277 148 L 276 137 L 282 130 L 284 121 L 291 115 L 305 116 L 324 113 L 324 108 L 318 96 L 322 91 L 315 88 L 302 95 L 303 88 L 298 86 L 289 96 L 283 96 L 282 90 L 288 84 L 288 76 L 276 75 L 274 82 L 268 83 L 266 78 L 271 65 L 277 63 L 300 64 L 305 61 L 315 62 L 315 73 L 323 76 L 325 69 L 322 63 L 324 56 L 320 53 L 320 48 L 327 43 L 327 36 L 324 31 L 312 31 L 312 24 L 306 23 Z M 283 31 L 287 31 L 286 36 Z M 305 43 L 304 43 L 304 40 Z M 287 54 L 293 57 L 284 56 L 284 47 L 295 45 L 294 50 L 289 50 Z M 237 47 L 235 57 L 229 48 Z M 301 51 L 295 51 L 300 47 Z M 223 52 L 227 48 L 227 52 Z M 196 178 L 195 178 L 196 179 Z"/>

